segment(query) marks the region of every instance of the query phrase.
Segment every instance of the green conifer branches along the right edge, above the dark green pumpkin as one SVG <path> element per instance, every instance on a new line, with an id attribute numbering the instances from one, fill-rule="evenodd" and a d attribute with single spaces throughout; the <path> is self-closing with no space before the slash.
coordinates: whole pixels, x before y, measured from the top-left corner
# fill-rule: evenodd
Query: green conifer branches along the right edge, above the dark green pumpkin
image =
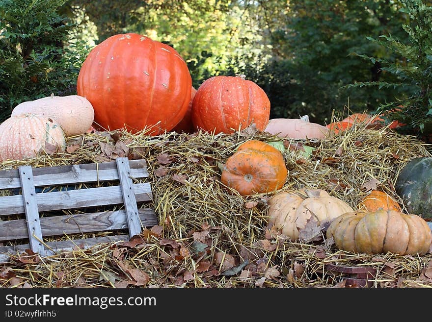
<path id="1" fill-rule="evenodd" d="M 380 104 L 376 113 L 384 113 L 390 121 L 399 121 L 405 126 L 401 132 L 429 135 L 432 133 L 432 6 L 421 0 L 402 0 L 400 9 L 409 17 L 403 25 L 407 40 L 401 41 L 393 35 L 380 35 L 378 39 L 368 37 L 371 43 L 393 53 L 395 59 L 360 55 L 372 62 L 378 61 L 383 73 L 397 77 L 397 83 L 357 82 L 350 88 L 378 86 L 399 90 L 390 102 Z M 401 106 L 403 108 L 401 109 Z"/>

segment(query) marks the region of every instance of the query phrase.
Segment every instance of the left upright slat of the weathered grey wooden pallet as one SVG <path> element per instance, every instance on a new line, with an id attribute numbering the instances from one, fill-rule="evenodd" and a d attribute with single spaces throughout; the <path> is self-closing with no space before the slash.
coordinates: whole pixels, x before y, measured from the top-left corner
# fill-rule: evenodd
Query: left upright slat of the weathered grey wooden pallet
<path id="1" fill-rule="evenodd" d="M 42 230 L 39 221 L 39 211 L 37 209 L 36 191 L 34 190 L 33 173 L 30 166 L 18 168 L 23 191 L 23 204 L 26 213 L 27 236 L 29 238 L 31 250 L 43 254 Z"/>

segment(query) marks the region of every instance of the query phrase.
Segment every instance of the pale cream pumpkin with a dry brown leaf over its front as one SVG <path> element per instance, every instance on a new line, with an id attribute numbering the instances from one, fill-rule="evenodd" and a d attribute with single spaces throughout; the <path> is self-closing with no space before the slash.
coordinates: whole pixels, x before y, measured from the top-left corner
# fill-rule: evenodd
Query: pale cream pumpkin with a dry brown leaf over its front
<path id="1" fill-rule="evenodd" d="M 322 189 L 300 189 L 279 192 L 269 200 L 269 223 L 295 241 L 312 217 L 323 225 L 338 216 L 352 212 L 345 201 L 331 197 Z"/>

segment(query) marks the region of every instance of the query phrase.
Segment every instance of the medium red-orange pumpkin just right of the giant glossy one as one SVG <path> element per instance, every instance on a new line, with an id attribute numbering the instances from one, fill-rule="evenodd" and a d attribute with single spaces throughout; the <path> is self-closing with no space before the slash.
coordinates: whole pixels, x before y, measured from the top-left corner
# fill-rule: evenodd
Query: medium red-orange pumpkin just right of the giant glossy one
<path id="1" fill-rule="evenodd" d="M 206 79 L 192 102 L 192 122 L 207 132 L 234 133 L 255 123 L 262 131 L 269 123 L 270 100 L 257 84 L 239 76 Z"/>

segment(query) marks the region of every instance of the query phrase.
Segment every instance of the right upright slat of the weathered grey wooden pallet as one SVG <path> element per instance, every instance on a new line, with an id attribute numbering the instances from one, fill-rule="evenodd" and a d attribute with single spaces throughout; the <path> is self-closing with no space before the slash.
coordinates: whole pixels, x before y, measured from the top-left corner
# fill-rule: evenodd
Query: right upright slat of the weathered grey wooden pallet
<path id="1" fill-rule="evenodd" d="M 123 196 L 123 203 L 126 210 L 126 218 L 128 222 L 129 237 L 141 233 L 141 222 L 138 217 L 138 207 L 136 206 L 135 194 L 133 191 L 133 182 L 130 178 L 131 169 L 129 168 L 128 158 L 117 158 L 118 177 L 120 178 L 120 187 Z"/>

